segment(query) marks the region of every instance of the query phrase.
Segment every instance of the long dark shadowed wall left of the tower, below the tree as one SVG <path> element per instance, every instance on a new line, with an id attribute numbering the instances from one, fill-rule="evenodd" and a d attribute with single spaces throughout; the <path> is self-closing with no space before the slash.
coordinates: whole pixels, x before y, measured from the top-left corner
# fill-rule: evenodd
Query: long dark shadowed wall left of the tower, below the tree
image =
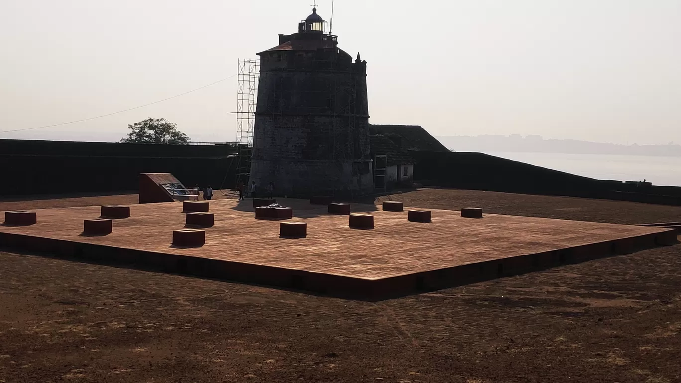
<path id="1" fill-rule="evenodd" d="M 134 192 L 140 173 L 214 189 L 236 179 L 231 147 L 0 140 L 0 149 L 0 196 Z"/>

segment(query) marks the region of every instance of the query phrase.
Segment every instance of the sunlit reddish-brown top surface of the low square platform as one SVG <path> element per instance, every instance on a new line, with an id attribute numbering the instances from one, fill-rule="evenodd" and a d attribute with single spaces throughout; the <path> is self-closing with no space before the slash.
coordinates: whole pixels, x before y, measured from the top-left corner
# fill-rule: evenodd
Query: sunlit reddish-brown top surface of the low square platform
<path id="1" fill-rule="evenodd" d="M 407 221 L 406 206 L 394 213 L 354 204 L 355 212 L 373 212 L 376 226 L 355 230 L 347 216 L 327 215 L 326 206 L 279 202 L 294 208 L 293 220 L 307 222 L 306 238 L 279 238 L 279 221 L 255 219 L 251 200 L 211 201 L 215 226 L 196 248 L 170 246 L 172 230 L 185 225 L 180 202 L 131 205 L 131 217 L 114 220 L 107 236 L 80 235 L 83 219 L 98 217 L 99 206 L 37 210 L 37 224 L 0 226 L 0 232 L 375 280 L 666 230 L 510 215 L 467 219 L 445 210 L 432 210 L 432 222 L 422 224 Z"/>

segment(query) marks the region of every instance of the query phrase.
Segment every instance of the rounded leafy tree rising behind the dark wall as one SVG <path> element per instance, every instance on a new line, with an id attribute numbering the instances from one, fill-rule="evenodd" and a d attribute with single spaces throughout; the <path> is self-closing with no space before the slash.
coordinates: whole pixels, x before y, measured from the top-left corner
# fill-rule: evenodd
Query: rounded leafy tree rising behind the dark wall
<path id="1" fill-rule="evenodd" d="M 138 123 L 129 124 L 128 129 L 132 132 L 121 140 L 124 144 L 189 144 L 187 134 L 180 132 L 175 123 L 166 119 L 149 117 Z"/>

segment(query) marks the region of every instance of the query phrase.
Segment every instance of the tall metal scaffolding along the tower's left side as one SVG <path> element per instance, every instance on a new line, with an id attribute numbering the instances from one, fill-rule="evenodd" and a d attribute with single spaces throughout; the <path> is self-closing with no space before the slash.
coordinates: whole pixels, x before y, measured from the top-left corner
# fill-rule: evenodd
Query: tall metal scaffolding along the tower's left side
<path id="1" fill-rule="evenodd" d="M 260 60 L 239 60 L 236 102 L 236 140 L 238 155 L 236 183 L 248 185 L 251 177 L 251 156 L 253 155 L 253 132 L 255 130 L 255 106 L 260 77 Z"/>

